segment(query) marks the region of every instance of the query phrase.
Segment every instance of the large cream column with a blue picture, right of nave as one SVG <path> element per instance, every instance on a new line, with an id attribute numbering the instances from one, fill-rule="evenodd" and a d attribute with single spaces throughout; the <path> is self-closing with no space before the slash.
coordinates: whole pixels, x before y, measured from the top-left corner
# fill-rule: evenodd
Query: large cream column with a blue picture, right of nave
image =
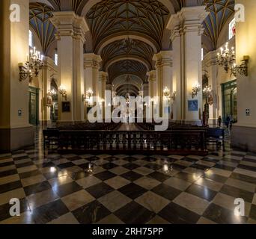
<path id="1" fill-rule="evenodd" d="M 196 83 L 202 85 L 201 34 L 204 32 L 202 22 L 207 15 L 205 6 L 183 7 L 179 13 L 171 16 L 167 25 L 171 30 L 174 91 L 177 92 L 174 120 L 201 124 L 202 92 L 192 99 L 192 87 Z M 196 108 L 189 110 L 191 100 L 198 101 L 197 111 Z"/>

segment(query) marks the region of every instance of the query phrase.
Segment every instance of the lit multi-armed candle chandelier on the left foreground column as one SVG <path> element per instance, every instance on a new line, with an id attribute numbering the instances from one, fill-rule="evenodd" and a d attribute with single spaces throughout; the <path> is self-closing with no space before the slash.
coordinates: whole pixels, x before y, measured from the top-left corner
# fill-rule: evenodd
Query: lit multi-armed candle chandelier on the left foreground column
<path id="1" fill-rule="evenodd" d="M 35 47 L 33 50 L 31 49 L 25 65 L 19 63 L 19 81 L 25 81 L 28 78 L 31 82 L 33 77 L 37 77 L 40 69 L 44 66 L 43 58 L 43 55 L 40 55 Z"/>

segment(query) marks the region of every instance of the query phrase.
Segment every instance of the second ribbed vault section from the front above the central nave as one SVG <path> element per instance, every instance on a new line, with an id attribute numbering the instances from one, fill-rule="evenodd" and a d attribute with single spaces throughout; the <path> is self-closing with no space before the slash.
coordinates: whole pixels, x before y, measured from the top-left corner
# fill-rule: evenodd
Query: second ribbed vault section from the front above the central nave
<path id="1" fill-rule="evenodd" d="M 109 60 L 115 58 L 142 58 L 147 63 L 149 69 L 152 69 L 153 49 L 140 40 L 126 38 L 110 43 L 103 48 L 101 58 L 103 59 L 103 70 L 106 70 L 106 65 Z"/>

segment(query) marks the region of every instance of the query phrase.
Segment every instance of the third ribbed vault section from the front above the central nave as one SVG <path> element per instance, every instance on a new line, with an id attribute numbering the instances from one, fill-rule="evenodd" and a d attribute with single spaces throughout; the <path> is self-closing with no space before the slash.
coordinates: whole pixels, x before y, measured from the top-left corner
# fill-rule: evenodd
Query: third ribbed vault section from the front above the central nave
<path id="1" fill-rule="evenodd" d="M 124 74 L 137 75 L 141 78 L 141 81 L 145 82 L 147 79 L 147 68 L 137 60 L 120 60 L 109 66 L 109 83 L 112 83 L 119 75 Z"/>

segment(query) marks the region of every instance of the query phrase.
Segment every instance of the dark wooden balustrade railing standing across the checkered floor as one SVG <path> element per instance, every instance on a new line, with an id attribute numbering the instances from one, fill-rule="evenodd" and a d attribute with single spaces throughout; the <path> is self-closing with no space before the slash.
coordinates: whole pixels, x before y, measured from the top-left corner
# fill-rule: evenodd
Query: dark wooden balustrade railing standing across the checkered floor
<path id="1" fill-rule="evenodd" d="M 206 129 L 169 131 L 43 131 L 44 149 L 62 152 L 115 152 L 207 155 Z"/>

